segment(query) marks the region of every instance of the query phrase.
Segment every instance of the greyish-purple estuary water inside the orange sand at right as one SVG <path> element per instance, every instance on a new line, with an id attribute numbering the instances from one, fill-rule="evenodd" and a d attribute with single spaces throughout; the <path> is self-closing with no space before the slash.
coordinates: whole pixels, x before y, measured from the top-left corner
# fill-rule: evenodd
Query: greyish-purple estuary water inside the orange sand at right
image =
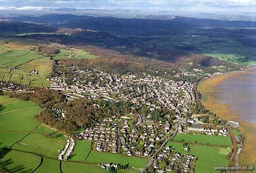
<path id="1" fill-rule="evenodd" d="M 256 123 L 256 68 L 230 75 L 218 86 L 218 101 L 240 115 L 240 120 Z"/>

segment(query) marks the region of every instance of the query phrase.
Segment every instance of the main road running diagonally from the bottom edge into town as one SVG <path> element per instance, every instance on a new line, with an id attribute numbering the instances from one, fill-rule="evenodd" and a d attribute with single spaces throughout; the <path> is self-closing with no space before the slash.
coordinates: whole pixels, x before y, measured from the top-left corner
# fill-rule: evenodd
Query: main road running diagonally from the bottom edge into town
<path id="1" fill-rule="evenodd" d="M 144 168 L 142 170 L 141 173 L 146 172 L 146 170 L 148 170 L 148 168 L 150 168 L 150 166 L 152 166 L 153 162 L 154 162 L 154 157 L 156 157 L 156 155 L 159 153 L 159 151 L 161 151 L 163 149 L 163 147 L 165 147 L 165 145 L 168 143 L 168 141 L 170 141 L 171 139 L 173 139 L 176 134 L 177 131 L 179 130 L 179 124 L 185 123 L 185 120 L 180 120 L 179 122 L 177 122 L 174 127 L 175 127 L 175 132 L 173 132 L 173 134 L 171 135 L 171 137 L 169 137 L 168 139 L 165 140 L 165 142 L 161 145 L 161 147 L 159 147 L 159 149 L 152 155 L 152 157 L 150 157 L 148 164 L 146 165 L 146 168 Z"/>

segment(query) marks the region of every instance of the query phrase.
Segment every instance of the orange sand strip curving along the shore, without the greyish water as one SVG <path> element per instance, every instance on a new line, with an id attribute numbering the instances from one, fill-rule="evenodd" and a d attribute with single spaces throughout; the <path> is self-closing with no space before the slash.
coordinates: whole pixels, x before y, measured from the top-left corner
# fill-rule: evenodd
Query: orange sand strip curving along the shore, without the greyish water
<path id="1" fill-rule="evenodd" d="M 256 68 L 256 67 L 253 67 Z M 217 116 L 224 120 L 234 120 L 240 123 L 239 130 L 245 137 L 244 149 L 239 154 L 239 166 L 256 166 L 256 124 L 244 120 L 238 112 L 230 109 L 228 104 L 219 103 L 217 87 L 230 78 L 237 74 L 241 74 L 244 71 L 252 70 L 249 68 L 243 71 L 228 72 L 226 74 L 221 74 L 214 76 L 213 78 L 200 80 L 197 86 L 197 91 L 202 95 L 200 100 L 202 105 L 211 112 L 217 114 Z"/>

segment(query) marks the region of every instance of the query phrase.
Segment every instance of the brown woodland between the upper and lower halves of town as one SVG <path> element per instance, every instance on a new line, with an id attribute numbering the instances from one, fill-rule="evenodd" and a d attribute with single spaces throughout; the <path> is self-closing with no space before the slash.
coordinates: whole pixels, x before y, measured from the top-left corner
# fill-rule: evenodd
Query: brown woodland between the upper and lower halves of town
<path id="1" fill-rule="evenodd" d="M 54 107 L 62 108 L 65 111 L 64 120 L 60 120 L 52 114 L 49 109 L 38 114 L 35 118 L 48 126 L 57 128 L 66 132 L 75 132 L 79 128 L 89 128 L 102 122 L 103 118 L 130 112 L 130 103 L 121 101 L 112 103 L 103 100 L 75 99 L 62 105 Z"/>

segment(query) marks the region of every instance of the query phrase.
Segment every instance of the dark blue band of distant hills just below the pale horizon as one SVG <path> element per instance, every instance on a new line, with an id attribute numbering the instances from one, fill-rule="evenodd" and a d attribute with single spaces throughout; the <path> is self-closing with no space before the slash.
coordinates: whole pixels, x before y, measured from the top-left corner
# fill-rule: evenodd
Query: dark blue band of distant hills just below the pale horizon
<path id="1" fill-rule="evenodd" d="M 124 19 L 110 17 L 75 16 L 51 14 L 39 17 L 22 16 L 10 18 L 13 21 L 37 22 L 65 28 L 83 28 L 115 33 L 140 33 L 145 30 L 184 30 L 191 27 L 236 27 L 255 28 L 255 21 L 228 21 L 179 16 L 148 16 L 146 19 Z"/>

